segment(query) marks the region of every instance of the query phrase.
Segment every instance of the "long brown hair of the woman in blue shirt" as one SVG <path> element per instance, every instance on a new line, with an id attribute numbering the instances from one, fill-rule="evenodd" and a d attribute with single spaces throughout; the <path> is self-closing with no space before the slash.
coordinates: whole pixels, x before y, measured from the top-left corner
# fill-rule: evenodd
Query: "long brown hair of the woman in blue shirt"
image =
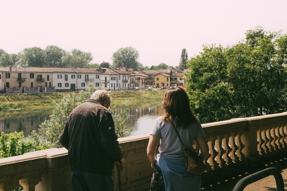
<path id="1" fill-rule="evenodd" d="M 181 87 L 172 87 L 164 92 L 162 104 L 165 109 L 162 122 L 171 123 L 172 119 L 175 119 L 177 125 L 183 125 L 183 128 L 186 128 L 191 122 L 197 120 L 190 109 L 188 96 Z"/>

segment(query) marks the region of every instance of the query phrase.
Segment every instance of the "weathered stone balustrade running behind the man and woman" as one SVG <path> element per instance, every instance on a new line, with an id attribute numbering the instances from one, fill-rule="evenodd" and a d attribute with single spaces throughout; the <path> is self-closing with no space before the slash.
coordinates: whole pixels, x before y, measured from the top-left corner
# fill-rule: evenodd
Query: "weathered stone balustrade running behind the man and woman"
<path id="1" fill-rule="evenodd" d="M 203 124 L 210 156 L 202 182 L 231 175 L 254 162 L 286 156 L 286 125 L 287 112 Z M 122 190 L 149 190 L 153 169 L 146 156 L 148 139 L 148 134 L 119 139 L 126 161 L 120 171 Z M 118 190 L 116 168 L 113 177 Z M 53 148 L 0 159 L 0 190 L 10 191 L 19 184 L 24 191 L 71 190 L 67 150 Z"/>

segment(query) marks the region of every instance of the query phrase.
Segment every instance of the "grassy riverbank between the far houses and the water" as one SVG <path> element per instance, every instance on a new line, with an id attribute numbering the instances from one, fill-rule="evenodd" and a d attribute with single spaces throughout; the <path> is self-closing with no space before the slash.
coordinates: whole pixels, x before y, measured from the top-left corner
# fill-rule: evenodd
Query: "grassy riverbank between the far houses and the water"
<path id="1" fill-rule="evenodd" d="M 127 90 L 111 91 L 112 101 L 117 105 L 160 101 L 165 90 Z M 53 102 L 59 103 L 67 93 L 13 94 L 0 96 L 0 111 L 9 109 L 51 108 Z"/>

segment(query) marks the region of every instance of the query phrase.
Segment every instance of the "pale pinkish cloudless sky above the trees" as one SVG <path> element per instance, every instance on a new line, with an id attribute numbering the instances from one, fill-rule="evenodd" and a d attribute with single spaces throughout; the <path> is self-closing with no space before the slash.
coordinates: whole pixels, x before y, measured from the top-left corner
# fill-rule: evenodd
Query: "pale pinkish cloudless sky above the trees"
<path id="1" fill-rule="evenodd" d="M 286 34 L 286 8 L 286 0 L 1 0 L 0 49 L 55 45 L 112 64 L 131 46 L 143 66 L 178 66 L 183 48 L 190 58 L 202 44 L 231 46 L 256 26 Z"/>

